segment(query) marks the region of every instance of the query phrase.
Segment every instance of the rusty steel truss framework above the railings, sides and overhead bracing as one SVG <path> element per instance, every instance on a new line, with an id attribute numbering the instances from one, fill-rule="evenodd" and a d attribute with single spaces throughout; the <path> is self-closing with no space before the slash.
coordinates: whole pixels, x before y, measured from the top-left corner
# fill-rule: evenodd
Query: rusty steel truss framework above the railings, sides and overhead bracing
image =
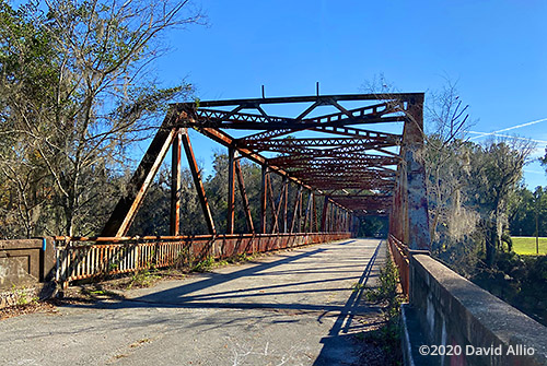
<path id="1" fill-rule="evenodd" d="M 348 104 L 353 107 L 348 107 Z M 356 104 L 359 105 L 357 108 Z M 301 109 L 293 116 L 275 116 L 265 110 L 270 106 Z M 325 106 L 330 113 L 322 115 L 321 109 Z M 248 233 L 351 232 L 357 228 L 357 217 L 389 215 L 392 235 L 412 248 L 427 249 L 427 198 L 420 158 L 423 145 L 422 107 L 422 93 L 315 95 L 174 104 L 102 236 L 123 237 L 127 234 L 171 146 L 173 170 L 170 234 L 179 235 L 183 150 L 209 234 L 218 234 L 220 228 L 214 224 L 188 135 L 188 130 L 194 129 L 228 147 L 229 205 L 225 234 L 234 232 L 237 180 Z M 397 122 L 404 125 L 403 133 L 374 130 L 377 123 Z M 251 160 L 263 167 L 261 217 L 258 228 L 253 224 L 241 158 Z M 274 192 L 271 174 L 282 177 L 279 192 Z M 289 186 L 298 189 L 294 202 L 288 202 Z M 304 200 L 305 197 L 307 200 Z M 323 208 L 317 208 L 317 197 L 323 198 Z M 289 205 L 292 208 L 292 217 L 288 215 Z M 268 212 L 271 217 L 267 217 Z"/>

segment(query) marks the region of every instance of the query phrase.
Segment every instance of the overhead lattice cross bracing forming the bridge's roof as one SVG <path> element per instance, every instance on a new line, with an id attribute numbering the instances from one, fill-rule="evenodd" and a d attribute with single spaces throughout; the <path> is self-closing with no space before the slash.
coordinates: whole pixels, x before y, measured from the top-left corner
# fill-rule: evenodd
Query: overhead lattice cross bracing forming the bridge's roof
<path id="1" fill-rule="evenodd" d="M 391 147 L 400 146 L 403 135 L 361 126 L 405 121 L 409 103 L 421 98 L 421 94 L 326 95 L 200 102 L 197 108 L 195 104 L 186 103 L 177 104 L 176 110 L 185 116 L 181 126 L 198 131 L 211 128 L 263 130 L 230 137 L 225 142 L 241 150 L 244 156 L 247 151 L 263 156 L 265 164 L 279 168 L 319 194 L 328 193 L 329 199 L 356 215 L 387 214 L 393 200 L 386 196 L 393 192 L 400 162 L 398 151 Z M 349 101 L 366 105 L 344 107 Z M 265 105 L 302 102 L 310 105 L 295 116 L 271 116 L 265 111 Z M 310 117 L 319 106 L 326 105 L 338 111 Z M 249 113 L 253 109 L 255 113 Z M 298 132 L 304 135 L 299 137 Z M 325 137 L 311 138 L 304 132 Z M 265 153 L 277 155 L 266 157 Z M 369 194 L 356 194 L 356 190 L 366 190 Z M 335 197 L 336 193 L 344 196 Z"/>

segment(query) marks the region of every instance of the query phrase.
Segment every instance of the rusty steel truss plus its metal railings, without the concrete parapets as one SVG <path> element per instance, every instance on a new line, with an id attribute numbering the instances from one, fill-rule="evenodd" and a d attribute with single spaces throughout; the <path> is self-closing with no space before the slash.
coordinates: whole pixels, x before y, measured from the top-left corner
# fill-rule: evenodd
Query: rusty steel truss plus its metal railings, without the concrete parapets
<path id="1" fill-rule="evenodd" d="M 292 115 L 272 115 L 266 109 L 292 110 Z M 325 109 L 329 113 L 321 114 Z M 386 123 L 398 123 L 399 129 L 403 125 L 401 133 L 381 131 L 379 127 L 385 130 Z M 228 149 L 226 227 L 214 223 L 189 129 Z M 101 236 L 56 238 L 58 248 L 70 248 L 61 250 L 66 255 L 59 256 L 57 276 L 60 281 L 92 276 L 104 271 L 105 265 L 113 267 L 113 260 L 120 262 L 114 265 L 114 272 L 135 271 L 151 262 L 168 265 L 188 246 L 196 258 L 225 258 L 347 238 L 357 234 L 361 217 L 382 215 L 389 217 L 389 243 L 395 260 L 404 269 L 401 279 L 407 290 L 408 250 L 430 247 L 422 146 L 422 93 L 173 104 Z M 170 235 L 128 237 L 170 149 Z M 188 161 L 208 235 L 181 235 L 183 155 Z M 243 158 L 261 166 L 259 227 L 255 227 L 245 190 Z M 277 191 L 272 175 L 281 177 Z M 235 202 L 236 186 L 242 202 Z M 294 199 L 289 202 L 291 189 Z M 242 204 L 245 213 L 247 234 L 234 234 L 236 204 Z"/>

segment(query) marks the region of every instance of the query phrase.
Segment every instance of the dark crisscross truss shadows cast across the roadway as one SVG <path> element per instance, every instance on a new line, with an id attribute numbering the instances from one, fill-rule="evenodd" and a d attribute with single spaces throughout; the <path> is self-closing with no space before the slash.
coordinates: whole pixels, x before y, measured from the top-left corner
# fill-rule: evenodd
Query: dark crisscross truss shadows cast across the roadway
<path id="1" fill-rule="evenodd" d="M 348 244 L 354 243 L 356 240 L 345 240 L 342 243 L 334 244 L 328 249 L 317 248 L 315 250 L 305 251 L 299 253 L 296 256 L 287 256 L 282 259 L 275 260 L 271 262 L 259 262 L 254 263 L 255 265 L 244 268 L 242 270 L 237 270 L 231 273 L 206 273 L 203 275 L 208 275 L 208 278 L 198 280 L 190 283 L 184 283 L 179 286 L 167 288 L 163 291 L 158 291 L 148 295 L 143 295 L 132 299 L 123 299 L 116 303 L 94 303 L 94 304 L 85 304 L 85 305 L 72 305 L 75 307 L 82 308 L 106 308 L 106 309 L 127 309 L 127 308 L 218 308 L 218 309 L 269 309 L 275 310 L 277 312 L 284 312 L 291 315 L 298 314 L 306 314 L 306 312 L 315 312 L 317 316 L 317 321 L 323 322 L 322 318 L 327 316 L 329 312 L 335 312 L 337 319 L 331 327 L 327 337 L 322 339 L 323 349 L 321 351 L 319 356 L 315 361 L 314 365 L 333 365 L 335 359 L 344 359 L 344 356 L 340 358 L 339 353 L 341 350 L 347 350 L 348 339 L 351 337 L 350 333 L 359 331 L 359 328 L 369 327 L 370 324 L 354 326 L 352 324 L 352 320 L 356 315 L 362 314 L 366 311 L 362 305 L 360 305 L 360 300 L 362 297 L 362 293 L 364 292 L 364 286 L 368 284 L 369 280 L 376 276 L 376 271 L 373 271 L 373 267 L 379 258 L 379 251 L 382 246 L 382 241 L 379 241 L 376 245 L 374 252 L 371 258 L 365 256 L 351 257 L 351 259 L 342 259 L 337 263 L 329 263 L 329 265 L 321 267 L 321 268 L 310 268 L 306 269 L 280 269 L 279 271 L 266 272 L 267 270 L 275 269 L 276 267 L 282 264 L 292 264 L 299 260 L 303 260 L 306 258 L 311 258 L 313 256 L 321 255 L 325 251 L 337 250 L 337 249 L 346 249 L 345 246 Z M 282 256 L 282 253 L 278 253 L 278 256 Z M 251 262 L 253 263 L 253 262 Z M 335 265 L 335 264 L 340 265 Z M 356 276 L 348 276 L 345 274 L 346 272 L 360 273 L 360 269 L 363 267 L 363 263 L 366 263 L 362 273 Z M 349 271 L 350 267 L 359 268 L 359 271 L 353 270 Z M 345 270 L 344 270 L 345 269 Z M 234 281 L 236 279 L 241 279 L 244 276 L 257 276 L 257 275 L 283 275 L 283 274 L 299 274 L 304 272 L 316 272 L 316 273 L 336 273 L 334 279 L 323 279 L 323 280 L 311 280 L 311 281 L 300 281 L 300 282 L 289 282 L 284 284 L 271 284 L 271 285 L 260 285 L 246 287 L 242 290 L 221 290 L 211 293 L 199 293 L 202 290 L 212 286 L 219 286 L 222 284 L 226 284 L 230 281 Z M 311 284 L 319 284 L 327 282 L 335 282 L 341 280 L 350 280 L 354 279 L 354 282 L 359 283 L 356 286 L 356 291 L 351 292 L 348 300 L 344 305 L 337 304 L 305 304 L 299 302 L 287 302 L 287 303 L 274 303 L 260 300 L 259 296 L 265 296 L 268 294 L 275 295 L 290 295 L 290 294 L 304 294 L 304 293 L 323 293 L 323 292 L 335 292 L 335 291 L 348 291 L 348 287 L 344 288 L 321 288 L 317 286 L 316 288 L 302 288 L 299 290 L 299 286 L 302 285 L 311 285 Z M 220 286 L 222 288 L 222 286 Z M 281 290 L 281 292 L 275 292 L 274 290 Z M 258 292 L 258 293 L 249 293 L 249 292 Z M 257 299 L 257 302 L 247 303 L 243 302 L 243 299 Z M 229 302 L 230 300 L 230 302 Z M 371 311 L 369 309 L 368 311 Z M 266 317 L 271 316 L 272 322 L 290 322 L 291 320 L 279 320 L 276 319 L 275 314 L 265 315 Z M 333 314 L 330 314 L 333 316 Z M 219 327 L 220 324 L 212 326 Z M 346 347 L 344 346 L 346 345 Z"/>

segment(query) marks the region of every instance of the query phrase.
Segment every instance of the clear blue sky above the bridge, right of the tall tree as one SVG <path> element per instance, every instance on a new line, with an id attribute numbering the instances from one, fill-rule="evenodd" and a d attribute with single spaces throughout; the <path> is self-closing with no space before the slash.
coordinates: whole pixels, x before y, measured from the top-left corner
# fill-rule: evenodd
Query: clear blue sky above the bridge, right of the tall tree
<path id="1" fill-rule="evenodd" d="M 183 80 L 201 99 L 359 93 L 383 73 L 399 91 L 457 82 L 477 120 L 492 132 L 547 118 L 547 1 L 206 1 L 209 26 L 170 33 L 156 66 L 166 85 Z M 508 130 L 542 141 L 547 120 Z M 217 147 L 193 135 L 210 169 Z M 481 139 L 474 139 L 481 141 Z M 220 147 L 218 147 L 220 150 Z M 207 174 L 207 172 L 206 172 Z M 526 167 L 529 187 L 545 169 Z"/>

